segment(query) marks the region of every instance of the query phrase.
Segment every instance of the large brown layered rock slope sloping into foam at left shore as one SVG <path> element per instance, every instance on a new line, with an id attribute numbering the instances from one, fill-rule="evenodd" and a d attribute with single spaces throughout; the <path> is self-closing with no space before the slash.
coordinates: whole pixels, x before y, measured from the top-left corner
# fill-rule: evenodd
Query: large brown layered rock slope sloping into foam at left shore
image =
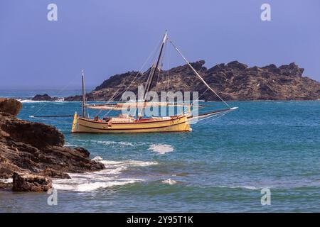
<path id="1" fill-rule="evenodd" d="M 64 143 L 63 134 L 53 126 L 23 121 L 12 114 L 0 112 L 0 179 L 11 178 L 14 172 L 70 178 L 65 172 L 105 168 L 102 163 L 90 160 L 90 153 L 85 148 L 68 148 L 63 146 Z"/>

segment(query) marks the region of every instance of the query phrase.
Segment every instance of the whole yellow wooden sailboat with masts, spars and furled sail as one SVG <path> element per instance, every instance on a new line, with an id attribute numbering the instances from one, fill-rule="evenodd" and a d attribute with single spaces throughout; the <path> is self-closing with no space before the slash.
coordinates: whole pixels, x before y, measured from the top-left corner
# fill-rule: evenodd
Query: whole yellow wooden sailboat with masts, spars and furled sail
<path id="1" fill-rule="evenodd" d="M 151 103 L 146 101 L 146 94 L 151 90 L 151 84 L 154 82 L 154 76 L 156 71 L 159 69 L 159 64 L 161 61 L 162 52 L 164 50 L 164 45 L 168 40 L 167 33 L 164 34 L 164 38 L 161 42 L 161 48 L 159 51 L 159 56 L 156 60 L 156 64 L 151 67 L 149 77 L 146 82 L 146 89 L 144 90 L 144 97 L 142 101 L 138 101 L 135 107 L 141 107 L 142 111 L 146 106 L 178 106 L 178 104 L 168 104 L 168 103 Z M 170 41 L 171 43 L 171 41 Z M 173 44 L 173 43 L 172 43 Z M 173 44 L 174 45 L 174 44 Z M 174 48 L 183 57 L 180 50 L 174 45 Z M 183 57 L 189 67 L 193 72 L 201 79 L 201 81 L 206 84 L 208 89 L 216 94 L 216 92 L 209 87 L 209 85 L 203 80 L 203 78 L 196 72 L 196 70 L 190 65 L 190 63 Z M 216 94 L 218 96 L 218 94 Z M 220 98 L 220 96 L 218 96 Z M 221 98 L 220 98 L 221 99 Z M 223 99 L 221 99 L 223 101 Z M 225 103 L 226 104 L 226 103 Z M 228 104 L 227 104 L 228 105 Z M 159 116 L 159 117 L 149 117 L 144 118 L 142 113 L 138 114 L 137 117 L 120 114 L 117 117 L 107 117 L 99 119 L 98 117 L 89 118 L 87 116 L 87 108 L 100 109 L 100 110 L 122 110 L 127 108 L 125 104 L 102 104 L 102 105 L 87 105 L 85 97 L 85 82 L 84 73 L 82 71 L 82 116 L 74 114 L 73 116 L 73 133 L 155 133 L 155 132 L 187 132 L 191 131 L 191 120 L 193 118 L 191 114 L 191 105 L 185 106 L 188 111 L 183 111 L 181 114 L 175 116 Z M 230 111 L 236 109 L 228 106 L 228 109 L 223 109 L 220 111 L 212 111 L 210 113 L 201 114 L 197 116 L 198 118 L 208 118 L 215 115 L 227 114 Z"/>

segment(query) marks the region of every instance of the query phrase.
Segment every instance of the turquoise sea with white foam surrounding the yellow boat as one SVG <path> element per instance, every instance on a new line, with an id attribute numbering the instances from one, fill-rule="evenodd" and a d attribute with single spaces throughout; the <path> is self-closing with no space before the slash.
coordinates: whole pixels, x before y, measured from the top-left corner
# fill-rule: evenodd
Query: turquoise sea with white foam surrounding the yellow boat
<path id="1" fill-rule="evenodd" d="M 19 92 L 0 96 L 41 93 Z M 23 102 L 19 118 L 56 126 L 66 145 L 87 148 L 107 169 L 55 180 L 56 206 L 46 193 L 0 191 L 0 211 L 319 212 L 320 101 L 230 105 L 239 109 L 201 121 L 191 133 L 92 135 L 71 134 L 71 118 L 29 118 L 73 114 L 79 102 Z M 262 188 L 270 189 L 271 205 L 262 206 Z"/>

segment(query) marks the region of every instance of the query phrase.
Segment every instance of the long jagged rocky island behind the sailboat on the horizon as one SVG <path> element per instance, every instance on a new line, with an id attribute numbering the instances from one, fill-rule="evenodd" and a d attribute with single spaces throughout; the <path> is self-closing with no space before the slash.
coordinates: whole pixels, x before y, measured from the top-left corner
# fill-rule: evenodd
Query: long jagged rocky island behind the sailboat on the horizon
<path id="1" fill-rule="evenodd" d="M 226 100 L 314 100 L 320 99 L 320 83 L 309 77 L 303 77 L 304 69 L 296 64 L 267 65 L 265 67 L 248 67 L 238 61 L 219 64 L 211 68 L 204 67 L 205 61 L 193 62 L 191 65 L 202 75 L 203 79 Z M 128 91 L 137 93 L 137 86 L 146 81 L 148 72 L 126 72 L 105 80 L 94 91 L 87 94 L 90 101 L 119 100 L 129 84 Z M 134 80 L 134 77 L 137 78 Z M 133 82 L 132 82 L 133 81 Z M 196 77 L 188 65 L 174 67 L 159 73 L 158 83 L 152 84 L 152 90 L 192 92 L 202 94 L 201 99 L 218 100 L 212 92 L 206 91 L 205 85 Z M 120 93 L 121 93 L 120 92 Z M 80 101 L 81 96 L 71 96 L 65 101 Z"/>

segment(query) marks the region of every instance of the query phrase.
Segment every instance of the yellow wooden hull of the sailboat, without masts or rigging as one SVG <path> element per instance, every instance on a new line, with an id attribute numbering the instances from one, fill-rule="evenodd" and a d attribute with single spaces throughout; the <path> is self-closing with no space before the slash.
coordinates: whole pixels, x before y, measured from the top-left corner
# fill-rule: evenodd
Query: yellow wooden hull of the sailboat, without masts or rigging
<path id="1" fill-rule="evenodd" d="M 73 133 L 160 133 L 191 131 L 187 115 L 122 123 L 93 121 L 75 115 Z"/>

